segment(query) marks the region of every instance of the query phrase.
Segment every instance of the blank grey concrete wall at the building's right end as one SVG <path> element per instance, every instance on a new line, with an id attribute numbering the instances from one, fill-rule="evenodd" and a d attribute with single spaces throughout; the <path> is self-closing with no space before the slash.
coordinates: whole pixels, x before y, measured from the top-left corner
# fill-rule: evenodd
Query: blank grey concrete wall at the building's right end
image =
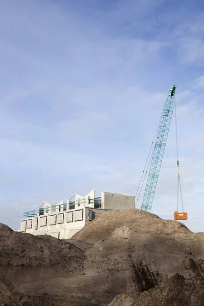
<path id="1" fill-rule="evenodd" d="M 117 193 L 104 192 L 104 208 L 125 210 L 135 208 L 135 197 Z"/>

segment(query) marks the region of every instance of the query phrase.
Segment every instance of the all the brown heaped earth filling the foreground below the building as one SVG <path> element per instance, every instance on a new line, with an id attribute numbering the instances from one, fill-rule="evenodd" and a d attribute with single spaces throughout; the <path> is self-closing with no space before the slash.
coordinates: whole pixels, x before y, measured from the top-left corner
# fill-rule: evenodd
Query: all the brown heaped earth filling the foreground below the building
<path id="1" fill-rule="evenodd" d="M 66 241 L 0 224 L 0 305 L 204 306 L 203 276 L 204 234 L 138 209 L 105 212 Z"/>

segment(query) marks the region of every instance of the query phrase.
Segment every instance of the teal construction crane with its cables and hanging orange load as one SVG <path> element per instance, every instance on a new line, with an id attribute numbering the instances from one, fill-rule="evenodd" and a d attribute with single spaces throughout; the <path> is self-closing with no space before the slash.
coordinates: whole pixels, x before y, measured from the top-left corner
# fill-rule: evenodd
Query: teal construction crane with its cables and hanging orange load
<path id="1" fill-rule="evenodd" d="M 150 212 L 151 211 L 151 206 L 152 206 L 152 202 L 154 200 L 154 196 L 155 196 L 155 191 L 156 191 L 156 187 L 157 187 L 157 182 L 158 182 L 158 178 L 159 178 L 159 173 L 160 173 L 160 169 L 161 169 L 161 164 L 162 164 L 162 159 L 163 159 L 163 155 L 164 155 L 164 150 L 165 150 L 165 146 L 166 146 L 166 141 L 167 141 L 167 137 L 168 137 L 168 132 L 169 132 L 169 127 L 170 127 L 170 123 L 171 123 L 171 118 L 172 118 L 172 114 L 173 114 L 173 107 L 175 104 L 175 89 L 176 86 L 172 85 L 171 88 L 169 89 L 168 92 L 168 96 L 164 105 L 164 109 L 162 111 L 162 115 L 161 115 L 161 119 L 159 122 L 159 126 L 158 129 L 155 134 L 155 137 L 157 135 L 156 138 L 156 142 L 155 142 L 155 146 L 154 149 L 152 151 L 152 155 L 149 161 L 149 165 L 147 167 L 146 173 L 148 171 L 149 168 L 149 172 L 148 172 L 148 177 L 147 177 L 147 183 L 146 183 L 146 187 L 145 187 L 145 191 L 144 191 L 144 196 L 143 196 L 143 200 L 142 200 L 142 206 L 141 206 L 141 210 L 146 211 L 146 212 Z M 176 113 L 175 113 L 176 114 Z M 175 117 L 176 119 L 176 117 Z M 176 120 L 175 120 L 176 121 Z M 152 142 L 153 145 L 154 141 Z M 151 146 L 152 146 L 151 145 Z M 179 154 L 178 154 L 178 146 L 177 146 L 177 125 L 176 125 L 176 148 L 177 148 L 177 174 L 178 174 L 178 183 L 177 183 L 177 210 L 178 210 L 178 201 L 179 201 L 179 187 L 180 187 L 180 191 L 181 191 L 181 182 L 180 182 L 180 174 L 179 174 Z M 151 151 L 151 148 L 150 148 Z M 149 151 L 149 154 L 150 154 Z M 147 157 L 147 160 L 149 158 L 149 155 Z M 146 161 L 147 164 L 147 161 Z M 146 167 L 145 164 L 145 167 Z M 145 168 L 144 168 L 145 170 Z M 143 174 L 144 174 L 144 170 L 143 170 Z M 142 176 L 143 176 L 142 174 Z M 146 174 L 145 174 L 146 176 Z M 142 177 L 141 177 L 142 180 Z M 141 183 L 140 180 L 140 183 Z M 145 180 L 145 177 L 144 177 Z M 144 183 L 143 180 L 143 183 Z M 140 186 L 139 183 L 139 186 Z M 142 183 L 142 185 L 143 185 Z M 138 186 L 138 190 L 139 190 L 139 186 Z M 137 192 L 138 192 L 137 190 Z M 140 189 L 141 192 L 141 189 Z M 140 193 L 139 193 L 140 194 Z M 137 193 L 136 193 L 137 195 Z M 139 198 L 139 197 L 138 197 Z M 181 192 L 181 198 L 182 198 L 182 192 Z M 182 198 L 182 207 L 183 207 L 183 198 Z M 184 208 L 183 208 L 184 211 Z M 174 219 L 187 219 L 187 213 L 178 213 L 177 211 L 174 213 Z"/>

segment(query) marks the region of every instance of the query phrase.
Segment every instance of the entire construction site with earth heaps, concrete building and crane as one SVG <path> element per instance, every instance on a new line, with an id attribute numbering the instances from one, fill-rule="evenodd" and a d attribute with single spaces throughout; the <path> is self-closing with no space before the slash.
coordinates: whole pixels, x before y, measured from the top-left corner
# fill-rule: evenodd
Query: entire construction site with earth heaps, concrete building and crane
<path id="1" fill-rule="evenodd" d="M 204 305 L 204 233 L 182 223 L 191 216 L 184 210 L 177 126 L 174 220 L 151 213 L 173 110 L 176 118 L 175 89 L 135 196 L 93 189 L 24 212 L 18 230 L 0 223 L 1 305 Z"/>

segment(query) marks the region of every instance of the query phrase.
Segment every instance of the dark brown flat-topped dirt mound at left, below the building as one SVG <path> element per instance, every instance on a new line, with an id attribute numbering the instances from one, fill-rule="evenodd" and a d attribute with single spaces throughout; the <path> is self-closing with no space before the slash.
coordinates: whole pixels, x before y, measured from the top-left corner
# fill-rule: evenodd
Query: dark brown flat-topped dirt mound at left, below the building
<path id="1" fill-rule="evenodd" d="M 48 235 L 33 236 L 1 225 L 0 266 L 56 267 L 76 272 L 84 263 L 84 252 L 77 246 Z M 66 264 L 65 264 L 66 263 Z M 74 273 L 75 273 L 74 272 Z"/>

